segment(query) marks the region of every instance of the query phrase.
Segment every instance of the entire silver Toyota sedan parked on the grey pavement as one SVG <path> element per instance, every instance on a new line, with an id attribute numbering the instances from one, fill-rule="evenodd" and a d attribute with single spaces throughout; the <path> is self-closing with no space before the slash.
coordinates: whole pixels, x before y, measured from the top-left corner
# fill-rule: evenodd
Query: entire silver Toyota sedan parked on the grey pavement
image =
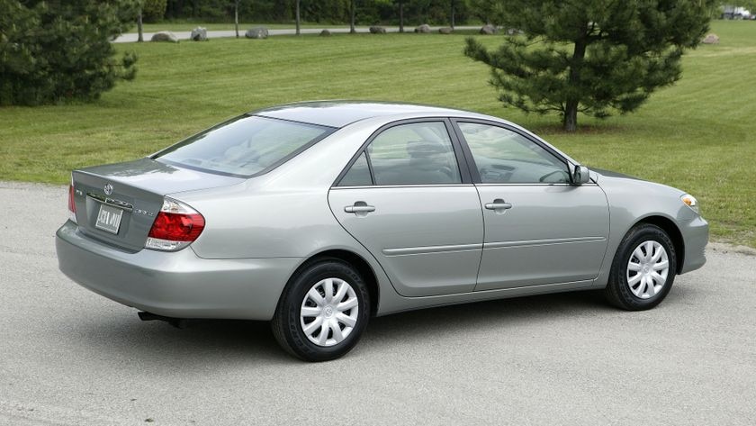
<path id="1" fill-rule="evenodd" d="M 315 102 L 246 113 L 144 159 L 75 170 L 60 269 L 145 320 L 271 321 L 296 357 L 371 316 L 604 289 L 649 309 L 704 265 L 669 186 L 581 166 L 499 118 Z"/>

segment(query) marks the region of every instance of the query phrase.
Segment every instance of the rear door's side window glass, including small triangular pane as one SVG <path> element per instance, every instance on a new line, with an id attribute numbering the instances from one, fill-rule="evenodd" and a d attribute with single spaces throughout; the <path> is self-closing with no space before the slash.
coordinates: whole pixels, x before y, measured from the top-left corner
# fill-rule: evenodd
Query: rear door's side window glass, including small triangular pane
<path id="1" fill-rule="evenodd" d="M 367 158 L 373 168 L 375 185 L 462 183 L 444 122 L 413 122 L 389 128 L 368 145 Z M 352 174 L 350 170 L 345 178 Z"/>

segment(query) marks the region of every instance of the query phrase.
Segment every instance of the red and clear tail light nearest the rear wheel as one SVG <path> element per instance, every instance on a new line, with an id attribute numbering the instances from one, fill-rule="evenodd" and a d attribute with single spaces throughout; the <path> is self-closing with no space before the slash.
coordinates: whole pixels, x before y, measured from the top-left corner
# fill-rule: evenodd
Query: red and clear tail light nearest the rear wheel
<path id="1" fill-rule="evenodd" d="M 166 198 L 144 247 L 162 251 L 184 249 L 200 236 L 203 229 L 202 214 L 184 203 Z"/>

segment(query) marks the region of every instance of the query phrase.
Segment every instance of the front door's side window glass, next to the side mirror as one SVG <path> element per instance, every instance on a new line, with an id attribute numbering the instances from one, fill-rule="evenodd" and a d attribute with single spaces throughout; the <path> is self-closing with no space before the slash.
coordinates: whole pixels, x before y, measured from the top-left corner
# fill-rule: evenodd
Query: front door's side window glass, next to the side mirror
<path id="1" fill-rule="evenodd" d="M 484 184 L 569 183 L 567 165 L 535 141 L 490 124 L 459 122 Z"/>

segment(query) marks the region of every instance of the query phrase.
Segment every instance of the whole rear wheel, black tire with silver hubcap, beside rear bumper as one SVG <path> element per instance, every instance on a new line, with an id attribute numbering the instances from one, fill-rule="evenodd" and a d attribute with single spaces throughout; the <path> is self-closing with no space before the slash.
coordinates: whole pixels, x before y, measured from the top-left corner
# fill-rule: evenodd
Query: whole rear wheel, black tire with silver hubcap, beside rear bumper
<path id="1" fill-rule="evenodd" d="M 293 356 L 328 361 L 354 348 L 369 318 L 370 295 L 362 276 L 329 258 L 293 276 L 271 325 L 275 340 Z"/>

